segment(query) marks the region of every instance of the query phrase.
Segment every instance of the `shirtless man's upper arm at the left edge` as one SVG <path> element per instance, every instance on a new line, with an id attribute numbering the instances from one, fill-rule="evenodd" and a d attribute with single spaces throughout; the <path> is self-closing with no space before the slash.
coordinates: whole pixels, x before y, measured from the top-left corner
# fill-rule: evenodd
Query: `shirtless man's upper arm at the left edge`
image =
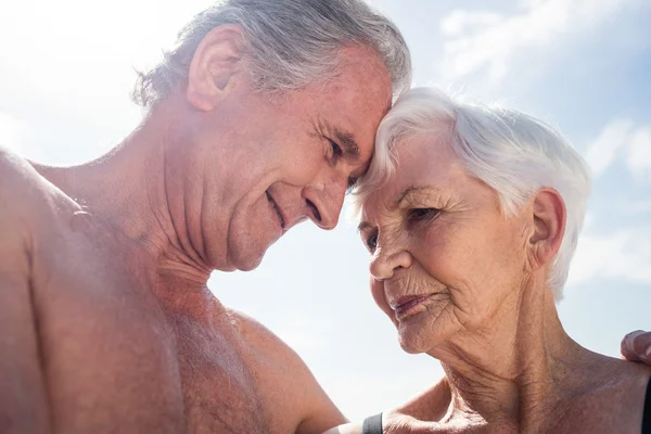
<path id="1" fill-rule="evenodd" d="M 26 163 L 25 163 L 26 164 Z M 49 431 L 20 162 L 0 150 L 0 433 Z"/>

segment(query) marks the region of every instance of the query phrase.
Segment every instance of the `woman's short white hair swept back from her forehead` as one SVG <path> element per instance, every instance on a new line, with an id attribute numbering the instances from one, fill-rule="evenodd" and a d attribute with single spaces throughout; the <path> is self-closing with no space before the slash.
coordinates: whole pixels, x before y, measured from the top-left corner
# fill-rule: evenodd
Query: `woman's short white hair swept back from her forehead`
<path id="1" fill-rule="evenodd" d="M 371 166 L 353 195 L 357 213 L 395 170 L 396 144 L 414 136 L 449 143 L 469 174 L 498 193 L 505 215 L 513 215 L 540 188 L 559 192 L 566 208 L 565 234 L 548 283 L 560 301 L 590 192 L 588 166 L 572 145 L 524 113 L 463 103 L 435 88 L 411 89 L 378 129 Z"/>

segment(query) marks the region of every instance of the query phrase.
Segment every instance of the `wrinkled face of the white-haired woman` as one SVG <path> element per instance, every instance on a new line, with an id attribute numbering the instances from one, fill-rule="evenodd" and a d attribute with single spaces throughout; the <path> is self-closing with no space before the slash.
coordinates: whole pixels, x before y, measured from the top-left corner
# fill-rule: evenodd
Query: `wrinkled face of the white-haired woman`
<path id="1" fill-rule="evenodd" d="M 497 193 L 437 139 L 397 144 L 392 179 L 362 208 L 371 290 L 408 353 L 488 327 L 527 279 L 527 213 L 502 215 Z"/>

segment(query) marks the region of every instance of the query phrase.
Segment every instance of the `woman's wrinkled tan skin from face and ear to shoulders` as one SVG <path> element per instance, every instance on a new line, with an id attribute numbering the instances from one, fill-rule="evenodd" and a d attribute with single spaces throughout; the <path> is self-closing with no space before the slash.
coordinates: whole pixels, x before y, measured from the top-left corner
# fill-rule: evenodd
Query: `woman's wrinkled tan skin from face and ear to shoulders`
<path id="1" fill-rule="evenodd" d="M 385 411 L 384 432 L 638 433 L 651 369 L 573 342 L 547 288 L 560 195 L 540 189 L 505 216 L 445 141 L 410 137 L 396 154 L 362 209 L 371 289 L 403 348 L 439 359 L 446 376 Z"/>

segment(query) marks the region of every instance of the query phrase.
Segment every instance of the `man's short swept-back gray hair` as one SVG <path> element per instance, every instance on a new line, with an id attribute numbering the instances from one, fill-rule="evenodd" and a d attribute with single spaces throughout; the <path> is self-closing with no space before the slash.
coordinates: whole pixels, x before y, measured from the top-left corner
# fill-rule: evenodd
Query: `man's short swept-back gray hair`
<path id="1" fill-rule="evenodd" d="M 243 29 L 255 91 L 285 92 L 332 78 L 340 50 L 356 44 L 378 53 L 392 78 L 394 95 L 411 81 L 403 36 L 362 0 L 222 0 L 195 15 L 156 66 L 139 73 L 133 101 L 151 106 L 183 84 L 200 42 L 224 24 Z"/>

